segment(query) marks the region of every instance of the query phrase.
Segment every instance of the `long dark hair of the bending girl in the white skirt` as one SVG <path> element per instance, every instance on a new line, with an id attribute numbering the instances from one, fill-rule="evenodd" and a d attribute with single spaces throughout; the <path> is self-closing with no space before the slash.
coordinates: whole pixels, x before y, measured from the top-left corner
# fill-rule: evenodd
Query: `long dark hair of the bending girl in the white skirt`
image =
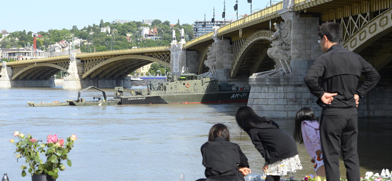
<path id="1" fill-rule="evenodd" d="M 253 126 L 258 125 L 260 123 L 271 122 L 271 120 L 266 117 L 258 116 L 252 110 L 252 108 L 249 108 L 247 106 L 243 106 L 240 109 L 238 109 L 236 113 L 236 120 L 238 126 L 240 126 L 244 131 L 247 131 Z"/>

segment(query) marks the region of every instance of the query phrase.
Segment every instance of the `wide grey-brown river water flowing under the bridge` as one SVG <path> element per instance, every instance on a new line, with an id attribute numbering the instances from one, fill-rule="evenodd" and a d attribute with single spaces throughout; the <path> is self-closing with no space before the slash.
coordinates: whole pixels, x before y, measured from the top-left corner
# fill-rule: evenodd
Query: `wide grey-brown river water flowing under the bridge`
<path id="1" fill-rule="evenodd" d="M 106 90 L 113 95 L 113 90 Z M 100 93 L 88 92 L 88 95 Z M 207 141 L 212 125 L 223 123 L 230 129 L 232 142 L 247 156 L 253 173 L 260 173 L 264 159 L 249 136 L 237 126 L 235 112 L 246 103 L 173 104 L 144 106 L 28 107 L 27 101 L 52 102 L 76 99 L 77 91 L 61 88 L 0 89 L 0 174 L 10 181 L 30 181 L 21 176 L 9 143 L 14 131 L 45 140 L 57 134 L 78 139 L 69 153 L 72 167 L 59 173 L 58 181 L 186 181 L 204 177 L 200 146 Z M 88 98 L 86 98 L 87 100 Z M 274 119 L 290 135 L 293 119 Z M 392 169 L 392 121 L 389 118 L 360 118 L 359 156 L 361 175 L 367 171 Z M 314 174 L 310 156 L 298 144 L 303 170 L 296 179 Z M 345 169 L 341 161 L 341 175 Z"/>

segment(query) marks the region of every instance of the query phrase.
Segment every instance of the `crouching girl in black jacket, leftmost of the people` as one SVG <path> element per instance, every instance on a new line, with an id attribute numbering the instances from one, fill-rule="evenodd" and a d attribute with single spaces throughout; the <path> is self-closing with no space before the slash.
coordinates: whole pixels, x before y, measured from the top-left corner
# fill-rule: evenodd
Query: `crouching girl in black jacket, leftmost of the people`
<path id="1" fill-rule="evenodd" d="M 201 155 L 206 181 L 245 181 L 244 176 L 251 173 L 248 159 L 238 144 L 230 142 L 229 130 L 223 124 L 210 129 L 208 142 L 201 146 Z"/>

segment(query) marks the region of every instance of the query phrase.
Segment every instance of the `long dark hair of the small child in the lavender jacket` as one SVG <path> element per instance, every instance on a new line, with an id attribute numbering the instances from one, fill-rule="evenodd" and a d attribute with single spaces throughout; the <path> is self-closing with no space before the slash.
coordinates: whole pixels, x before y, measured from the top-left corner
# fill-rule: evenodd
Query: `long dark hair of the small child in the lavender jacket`
<path id="1" fill-rule="evenodd" d="M 295 128 L 294 128 L 294 139 L 299 141 L 299 144 L 303 143 L 301 123 L 302 121 L 314 121 L 316 120 L 315 113 L 311 108 L 302 108 L 298 110 L 295 115 Z"/>

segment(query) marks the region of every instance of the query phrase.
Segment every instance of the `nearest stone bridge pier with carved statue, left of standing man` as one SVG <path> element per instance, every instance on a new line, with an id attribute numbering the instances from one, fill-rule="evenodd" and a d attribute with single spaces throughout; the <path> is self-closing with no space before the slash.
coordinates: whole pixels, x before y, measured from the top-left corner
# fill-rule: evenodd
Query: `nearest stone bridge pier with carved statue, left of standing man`
<path id="1" fill-rule="evenodd" d="M 268 50 L 275 68 L 249 77 L 248 106 L 260 116 L 293 118 L 303 107 L 311 107 L 320 116 L 317 98 L 303 80 L 308 68 L 322 54 L 317 42 L 319 18 L 300 18 L 298 12 L 285 4 L 286 8 L 278 12 L 285 22 L 275 24 L 277 31 Z"/>

